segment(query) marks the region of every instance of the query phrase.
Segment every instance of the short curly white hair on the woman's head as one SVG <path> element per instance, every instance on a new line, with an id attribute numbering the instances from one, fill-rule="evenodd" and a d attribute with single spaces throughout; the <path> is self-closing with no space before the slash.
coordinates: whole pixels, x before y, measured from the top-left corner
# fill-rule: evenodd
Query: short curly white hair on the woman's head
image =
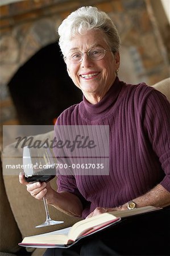
<path id="1" fill-rule="evenodd" d="M 99 29 L 103 31 L 107 38 L 111 51 L 118 52 L 120 39 L 117 28 L 113 21 L 103 11 L 98 11 L 97 7 L 84 6 L 73 11 L 61 23 L 59 33 L 59 46 L 65 56 L 67 43 L 77 34 L 84 34 L 88 30 Z"/>

